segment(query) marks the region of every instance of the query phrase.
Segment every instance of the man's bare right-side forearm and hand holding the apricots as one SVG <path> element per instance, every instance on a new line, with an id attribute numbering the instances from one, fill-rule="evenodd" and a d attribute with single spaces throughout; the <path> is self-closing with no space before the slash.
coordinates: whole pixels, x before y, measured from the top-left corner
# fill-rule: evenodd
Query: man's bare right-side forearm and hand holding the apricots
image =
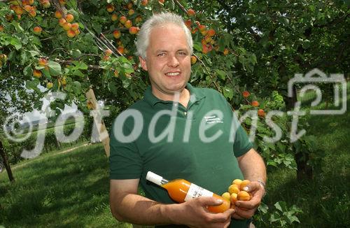
<path id="1" fill-rule="evenodd" d="M 259 181 L 266 183 L 266 167 L 262 157 L 253 148 L 241 157 L 237 157 L 237 160 L 244 178 L 251 180 L 247 186 L 247 192 L 251 193 L 253 197 L 250 201 L 237 201 L 233 217 L 237 219 L 251 218 L 265 194 L 265 187 Z"/>

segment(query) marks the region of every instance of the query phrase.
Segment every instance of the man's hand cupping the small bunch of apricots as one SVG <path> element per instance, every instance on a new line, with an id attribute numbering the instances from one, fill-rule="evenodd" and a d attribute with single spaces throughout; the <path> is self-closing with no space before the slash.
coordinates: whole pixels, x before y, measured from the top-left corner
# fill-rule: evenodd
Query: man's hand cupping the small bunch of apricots
<path id="1" fill-rule="evenodd" d="M 246 187 L 246 192 L 252 194 L 252 197 L 249 201 L 236 202 L 235 213 L 232 215 L 232 218 L 240 220 L 244 218 L 251 218 L 261 203 L 262 197 L 265 194 L 265 188 L 262 187 L 258 181 L 251 181 L 251 183 Z"/>

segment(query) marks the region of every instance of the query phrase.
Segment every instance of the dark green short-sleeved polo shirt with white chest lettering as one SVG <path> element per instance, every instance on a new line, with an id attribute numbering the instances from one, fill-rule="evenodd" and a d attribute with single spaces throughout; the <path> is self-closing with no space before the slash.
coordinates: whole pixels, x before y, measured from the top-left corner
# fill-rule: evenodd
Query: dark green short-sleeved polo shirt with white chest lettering
<path id="1" fill-rule="evenodd" d="M 172 204 L 165 189 L 146 181 L 148 171 L 219 195 L 232 180 L 243 178 L 236 157 L 252 145 L 230 105 L 216 90 L 186 88 L 187 108 L 158 99 L 148 87 L 144 99 L 118 115 L 111 130 L 111 179 L 139 178 L 146 197 Z M 247 222 L 232 220 L 231 227 L 247 227 Z"/>

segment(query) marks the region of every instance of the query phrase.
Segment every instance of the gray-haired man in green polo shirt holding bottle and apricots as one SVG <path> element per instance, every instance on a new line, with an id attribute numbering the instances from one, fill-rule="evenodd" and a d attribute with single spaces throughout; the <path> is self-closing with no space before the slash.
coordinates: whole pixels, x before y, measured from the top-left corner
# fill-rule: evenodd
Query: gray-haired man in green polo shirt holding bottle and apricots
<path id="1" fill-rule="evenodd" d="M 153 15 L 141 27 L 137 50 L 151 88 L 113 124 L 113 215 L 139 225 L 248 227 L 265 193 L 265 164 L 223 96 L 188 84 L 193 41 L 182 18 Z M 216 194 L 245 178 L 253 197 L 237 201 L 235 210 L 211 213 L 207 206 L 221 201 L 197 197 L 176 204 L 166 190 L 146 181 L 147 171 L 184 178 Z M 139 184 L 146 197 L 138 194 Z"/>

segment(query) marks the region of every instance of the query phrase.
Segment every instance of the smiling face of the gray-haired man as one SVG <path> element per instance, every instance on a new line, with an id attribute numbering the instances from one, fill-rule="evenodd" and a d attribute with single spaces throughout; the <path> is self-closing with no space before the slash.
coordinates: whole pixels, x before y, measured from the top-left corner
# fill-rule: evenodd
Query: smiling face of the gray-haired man
<path id="1" fill-rule="evenodd" d="M 176 92 L 181 94 L 191 72 L 185 31 L 176 24 L 154 27 L 146 56 L 146 59 L 139 58 L 142 68 L 148 71 L 155 97 L 169 101 Z"/>

